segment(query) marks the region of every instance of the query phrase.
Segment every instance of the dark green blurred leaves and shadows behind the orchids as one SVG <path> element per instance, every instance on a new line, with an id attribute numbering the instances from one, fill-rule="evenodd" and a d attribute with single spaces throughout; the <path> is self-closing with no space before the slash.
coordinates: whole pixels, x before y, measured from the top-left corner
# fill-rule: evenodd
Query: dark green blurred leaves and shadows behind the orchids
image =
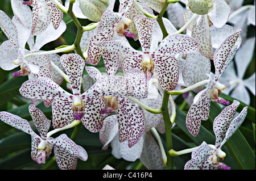
<path id="1" fill-rule="evenodd" d="M 65 0 L 63 3 L 64 2 Z M 116 12 L 118 11 L 118 2 L 119 1 L 116 2 L 114 9 Z M 243 5 L 253 5 L 253 3 L 253 0 L 245 0 Z M 10 0 L 1 0 L 0 9 L 9 15 L 10 18 L 13 17 Z M 167 17 L 166 14 L 164 14 L 164 16 Z M 82 26 L 92 23 L 87 19 L 79 20 Z M 67 24 L 67 30 L 56 41 L 44 45 L 43 50 L 52 50 L 60 45 L 71 45 L 74 43 L 77 31 L 76 26 L 72 22 L 72 19 L 66 14 L 64 14 L 64 21 Z M 247 37 L 253 36 L 255 37 L 255 26 L 250 25 L 248 26 Z M 5 40 L 7 40 L 7 38 L 0 30 L 0 44 Z M 129 42 L 135 49 L 141 47 L 138 41 L 129 39 Z M 100 71 L 105 71 L 104 62 L 102 60 L 96 67 Z M 19 87 L 27 80 L 27 77 L 12 77 L 11 74 L 17 70 L 19 70 L 19 68 L 11 71 L 5 71 L 0 68 L 0 111 L 11 112 L 31 122 L 32 119 L 28 112 L 29 103 L 19 94 Z M 244 78 L 250 77 L 254 72 L 255 53 Z M 61 87 L 69 91 L 65 84 L 66 82 L 63 81 Z M 229 96 L 225 98 L 233 102 L 233 99 Z M 218 113 L 221 112 L 222 108 L 217 103 L 212 102 L 209 121 L 203 121 L 199 135 L 193 137 L 185 127 L 185 116 L 189 106 L 186 105 L 182 108 L 182 111 L 179 110 L 183 103 L 181 96 L 179 96 L 175 102 L 177 104 L 176 127 L 174 127 L 172 131 L 174 149 L 182 150 L 191 148 L 200 145 L 203 141 L 206 141 L 208 144 L 214 144 L 215 137 L 212 131 L 212 123 Z M 244 106 L 246 105 L 241 103 L 238 111 L 241 111 Z M 51 120 L 51 107 L 46 108 L 43 103 L 40 103 L 37 107 Z M 249 115 L 246 117 L 242 126 L 223 148 L 227 155 L 224 159 L 224 163 L 232 169 L 255 169 L 255 96 L 252 94 L 248 113 Z M 33 124 L 31 124 L 31 126 L 34 131 L 38 133 L 35 126 Z M 52 137 L 57 137 L 62 133 L 70 137 L 72 132 L 73 128 L 53 134 Z M 164 144 L 165 136 L 164 134 L 160 134 L 160 136 Z M 110 145 L 107 150 L 102 150 L 103 145 L 99 140 L 98 133 L 91 133 L 83 126 L 74 141 L 76 144 L 83 146 L 88 152 L 88 160 L 83 162 L 79 159 L 77 169 L 102 169 L 106 164 L 111 165 L 115 169 L 146 169 L 139 159 L 135 162 L 128 162 L 124 159 L 114 158 L 111 154 L 112 150 Z M 30 151 L 31 136 L 0 121 L 0 169 L 59 169 L 54 159 L 52 159 L 53 153 L 51 157 L 47 159 L 46 164 L 39 165 L 32 161 Z M 184 169 L 184 165 L 189 159 L 191 159 L 191 154 L 174 157 L 175 169 Z"/>

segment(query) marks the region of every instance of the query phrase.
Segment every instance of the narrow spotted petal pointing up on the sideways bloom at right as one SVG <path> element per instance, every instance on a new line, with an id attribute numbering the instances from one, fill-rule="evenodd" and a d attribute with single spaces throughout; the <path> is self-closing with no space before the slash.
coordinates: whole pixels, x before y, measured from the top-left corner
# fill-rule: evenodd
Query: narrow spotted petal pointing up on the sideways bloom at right
<path id="1" fill-rule="evenodd" d="M 214 52 L 214 81 L 218 81 L 222 71 L 225 70 L 226 66 L 228 66 L 229 62 L 232 60 L 235 50 L 237 48 L 235 44 L 238 37 L 240 36 L 240 33 L 241 30 L 237 30 L 235 33 L 228 36 L 225 41 L 220 45 L 220 47 L 218 47 L 218 49 L 216 49 L 216 51 Z"/>

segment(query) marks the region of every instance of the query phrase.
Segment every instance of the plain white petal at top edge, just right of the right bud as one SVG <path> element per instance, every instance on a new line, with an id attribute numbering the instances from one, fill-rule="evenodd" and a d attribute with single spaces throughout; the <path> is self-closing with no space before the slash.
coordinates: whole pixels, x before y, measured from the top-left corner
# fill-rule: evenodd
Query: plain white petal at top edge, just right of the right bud
<path id="1" fill-rule="evenodd" d="M 221 28 L 228 22 L 231 8 L 224 0 L 214 0 L 213 10 L 208 13 L 210 21 L 217 28 Z"/>

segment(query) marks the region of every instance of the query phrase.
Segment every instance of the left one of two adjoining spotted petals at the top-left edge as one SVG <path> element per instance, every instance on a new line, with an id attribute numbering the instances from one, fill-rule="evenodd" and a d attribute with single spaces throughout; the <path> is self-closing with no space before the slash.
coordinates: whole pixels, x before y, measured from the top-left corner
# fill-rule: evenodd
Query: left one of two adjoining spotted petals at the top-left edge
<path id="1" fill-rule="evenodd" d="M 36 36 L 44 32 L 49 26 L 49 23 L 51 23 L 51 11 L 47 6 L 46 1 L 34 0 L 32 14 L 32 35 Z"/>

